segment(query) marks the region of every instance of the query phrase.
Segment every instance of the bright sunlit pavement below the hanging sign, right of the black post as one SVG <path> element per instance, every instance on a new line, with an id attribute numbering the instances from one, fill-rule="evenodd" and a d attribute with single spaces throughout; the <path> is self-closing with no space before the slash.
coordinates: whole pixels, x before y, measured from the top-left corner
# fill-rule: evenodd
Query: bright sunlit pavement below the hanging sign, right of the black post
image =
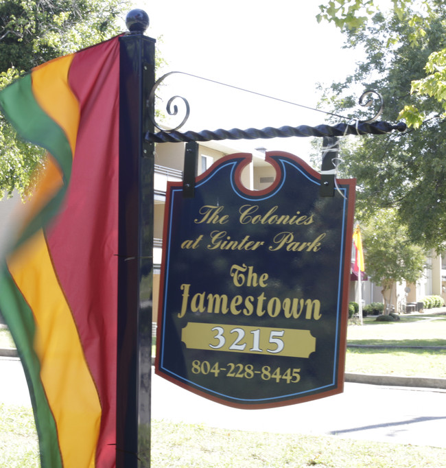
<path id="1" fill-rule="evenodd" d="M 333 397 L 267 410 L 237 410 L 154 375 L 152 418 L 446 447 L 446 390 L 346 383 L 344 393 Z"/>

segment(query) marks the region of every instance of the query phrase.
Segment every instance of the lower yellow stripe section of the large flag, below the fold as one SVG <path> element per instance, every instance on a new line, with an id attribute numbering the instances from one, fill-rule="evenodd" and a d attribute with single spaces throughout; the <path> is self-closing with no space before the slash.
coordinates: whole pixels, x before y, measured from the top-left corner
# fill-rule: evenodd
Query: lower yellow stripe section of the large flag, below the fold
<path id="1" fill-rule="evenodd" d="M 42 231 L 8 259 L 8 267 L 34 314 L 34 349 L 42 363 L 40 377 L 56 421 L 63 464 L 95 467 L 101 405 Z"/>

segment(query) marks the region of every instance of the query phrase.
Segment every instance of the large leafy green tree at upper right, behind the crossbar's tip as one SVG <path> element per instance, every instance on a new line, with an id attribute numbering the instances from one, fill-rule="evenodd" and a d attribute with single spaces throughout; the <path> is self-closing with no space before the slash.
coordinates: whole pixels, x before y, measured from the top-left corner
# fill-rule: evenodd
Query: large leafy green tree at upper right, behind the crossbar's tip
<path id="1" fill-rule="evenodd" d="M 429 21 L 422 23 L 408 8 L 409 1 L 404 2 L 404 11 L 387 16 L 375 12 L 350 29 L 344 23 L 347 47 L 362 47 L 364 59 L 354 75 L 332 84 L 325 104 L 344 115 L 351 109 L 353 115 L 360 87 L 382 93 L 383 120 L 397 121 L 403 108 L 417 109 L 425 116 L 417 130 L 352 137 L 342 145 L 340 169 L 343 175 L 357 178 L 360 220 L 394 207 L 414 244 L 441 251 L 446 245 L 446 121 L 436 97 L 411 93 L 412 83 L 425 78 L 426 62 L 446 45 L 446 10 L 439 2 L 430 3 Z"/>

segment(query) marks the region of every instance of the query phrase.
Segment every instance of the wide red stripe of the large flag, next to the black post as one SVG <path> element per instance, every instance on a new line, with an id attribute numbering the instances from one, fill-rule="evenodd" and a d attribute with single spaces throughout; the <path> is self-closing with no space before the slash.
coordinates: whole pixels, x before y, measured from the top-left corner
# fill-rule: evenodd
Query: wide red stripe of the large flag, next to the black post
<path id="1" fill-rule="evenodd" d="M 119 38 L 75 55 L 80 126 L 67 198 L 47 235 L 102 406 L 96 461 L 115 466 Z"/>

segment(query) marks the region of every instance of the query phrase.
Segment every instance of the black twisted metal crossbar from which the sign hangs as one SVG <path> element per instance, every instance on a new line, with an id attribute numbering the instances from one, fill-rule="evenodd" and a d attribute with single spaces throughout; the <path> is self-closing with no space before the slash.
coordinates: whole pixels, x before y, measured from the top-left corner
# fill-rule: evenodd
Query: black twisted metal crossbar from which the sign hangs
<path id="1" fill-rule="evenodd" d="M 281 128 L 266 127 L 262 130 L 256 128 L 248 128 L 240 130 L 233 128 L 232 130 L 202 130 L 201 132 L 178 132 L 172 130 L 170 132 L 147 132 L 145 140 L 150 143 L 179 143 L 181 141 L 211 141 L 211 140 L 254 140 L 254 139 L 270 139 L 270 138 L 287 138 L 287 137 L 342 137 L 344 135 L 364 135 L 364 134 L 385 134 L 398 130 L 403 132 L 406 130 L 404 122 L 397 124 L 389 124 L 388 122 L 355 122 L 353 124 L 337 124 L 335 126 L 318 125 L 310 127 L 301 125 L 298 127 L 284 126 Z"/>

